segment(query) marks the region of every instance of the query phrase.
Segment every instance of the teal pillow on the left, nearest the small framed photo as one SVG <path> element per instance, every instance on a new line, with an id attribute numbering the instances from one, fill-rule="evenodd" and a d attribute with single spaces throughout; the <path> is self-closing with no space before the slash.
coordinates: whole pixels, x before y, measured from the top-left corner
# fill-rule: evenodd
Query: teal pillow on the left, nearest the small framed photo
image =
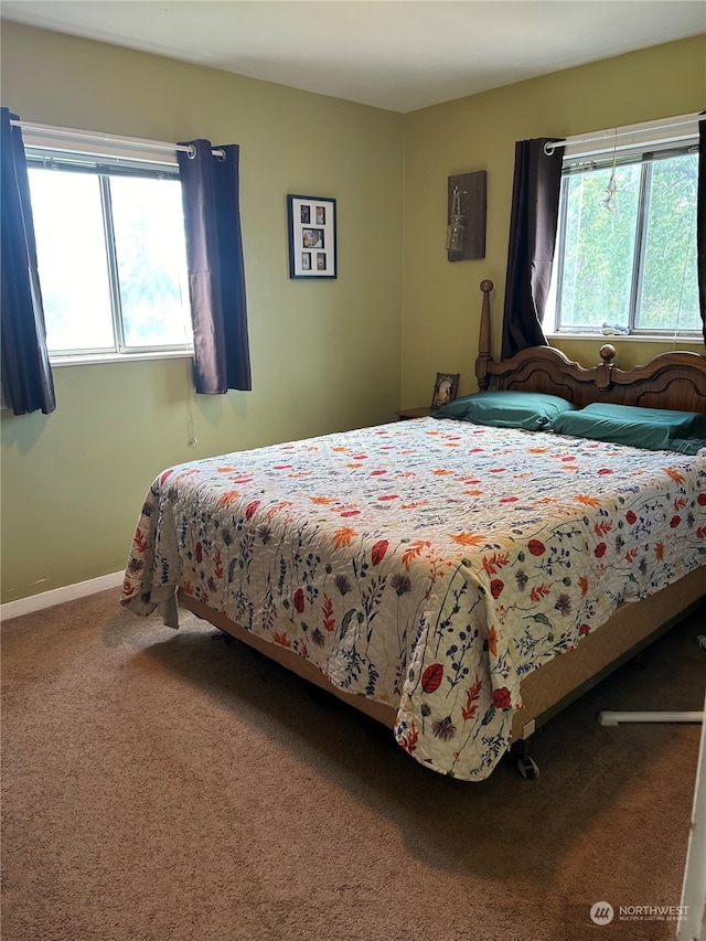
<path id="1" fill-rule="evenodd" d="M 538 392 L 477 392 L 437 408 L 435 418 L 458 418 L 474 425 L 548 431 L 558 415 L 575 408 L 558 395 Z"/>

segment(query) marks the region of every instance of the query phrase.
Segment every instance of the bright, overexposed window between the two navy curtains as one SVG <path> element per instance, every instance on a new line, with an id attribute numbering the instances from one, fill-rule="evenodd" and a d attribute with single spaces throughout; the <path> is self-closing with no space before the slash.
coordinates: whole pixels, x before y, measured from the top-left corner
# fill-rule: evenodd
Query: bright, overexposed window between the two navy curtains
<path id="1" fill-rule="evenodd" d="M 175 164 L 26 148 L 53 362 L 193 345 Z"/>

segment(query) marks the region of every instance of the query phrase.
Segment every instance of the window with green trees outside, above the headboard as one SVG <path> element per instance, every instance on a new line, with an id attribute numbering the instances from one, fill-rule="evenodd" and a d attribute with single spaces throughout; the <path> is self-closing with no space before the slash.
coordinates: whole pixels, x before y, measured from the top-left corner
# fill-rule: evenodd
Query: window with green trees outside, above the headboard
<path id="1" fill-rule="evenodd" d="M 697 181 L 695 139 L 565 154 L 549 331 L 700 335 Z"/>

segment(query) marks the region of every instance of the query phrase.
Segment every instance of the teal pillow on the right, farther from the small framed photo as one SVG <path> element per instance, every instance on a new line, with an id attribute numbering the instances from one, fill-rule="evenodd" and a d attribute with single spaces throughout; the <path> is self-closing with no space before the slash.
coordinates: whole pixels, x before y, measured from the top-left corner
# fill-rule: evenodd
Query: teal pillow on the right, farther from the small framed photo
<path id="1" fill-rule="evenodd" d="M 597 402 L 557 416 L 552 430 L 651 451 L 695 455 L 706 439 L 706 415 Z"/>

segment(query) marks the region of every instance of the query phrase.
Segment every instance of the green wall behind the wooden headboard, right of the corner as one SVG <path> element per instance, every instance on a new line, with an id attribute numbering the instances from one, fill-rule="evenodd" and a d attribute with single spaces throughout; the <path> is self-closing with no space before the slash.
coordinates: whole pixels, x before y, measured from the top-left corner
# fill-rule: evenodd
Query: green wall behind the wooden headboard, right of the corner
<path id="1" fill-rule="evenodd" d="M 507 259 L 515 141 L 691 114 L 706 107 L 706 36 L 668 43 L 460 98 L 407 116 L 405 130 L 405 407 L 425 405 L 437 371 L 460 373 L 473 392 L 482 295 L 490 278 L 499 352 Z M 485 258 L 446 259 L 447 178 L 485 170 Z M 610 319 L 610 318 L 609 318 Z M 620 364 L 646 362 L 670 345 L 620 341 Z M 555 341 L 584 365 L 599 362 L 605 341 Z M 703 344 L 687 345 L 704 352 Z"/>

